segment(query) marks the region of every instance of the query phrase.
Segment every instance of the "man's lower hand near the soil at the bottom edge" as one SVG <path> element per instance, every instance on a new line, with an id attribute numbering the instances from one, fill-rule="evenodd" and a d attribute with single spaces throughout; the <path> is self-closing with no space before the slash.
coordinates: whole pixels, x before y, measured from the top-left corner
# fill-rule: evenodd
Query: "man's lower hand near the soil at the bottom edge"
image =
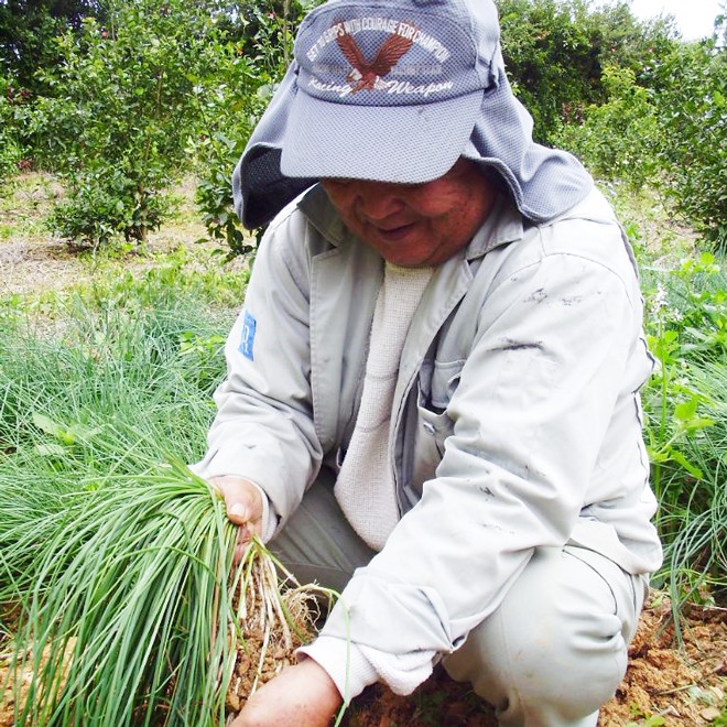
<path id="1" fill-rule="evenodd" d="M 341 702 L 328 673 L 306 659 L 260 687 L 230 727 L 327 727 Z"/>

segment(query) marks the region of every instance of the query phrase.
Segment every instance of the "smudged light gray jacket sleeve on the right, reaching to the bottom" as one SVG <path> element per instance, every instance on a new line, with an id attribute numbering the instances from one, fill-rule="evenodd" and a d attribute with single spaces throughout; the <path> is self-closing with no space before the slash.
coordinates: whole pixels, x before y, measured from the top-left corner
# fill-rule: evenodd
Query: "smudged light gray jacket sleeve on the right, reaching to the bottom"
<path id="1" fill-rule="evenodd" d="M 357 671 L 409 693 L 497 608 L 536 546 L 568 541 L 616 402 L 642 381 L 628 380 L 643 351 L 625 269 L 558 251 L 492 286 L 436 476 L 344 590 L 322 661 L 334 651 L 326 640 L 350 640 L 373 668 Z M 306 652 L 315 659 L 316 644 Z"/>

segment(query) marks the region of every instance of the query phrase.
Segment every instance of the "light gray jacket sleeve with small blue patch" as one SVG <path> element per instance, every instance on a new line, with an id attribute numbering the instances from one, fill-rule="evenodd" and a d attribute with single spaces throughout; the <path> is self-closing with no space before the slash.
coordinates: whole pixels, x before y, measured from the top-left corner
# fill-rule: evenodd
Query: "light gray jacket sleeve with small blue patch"
<path id="1" fill-rule="evenodd" d="M 302 215 L 279 218 L 263 238 L 225 347 L 227 378 L 203 477 L 239 475 L 268 496 L 280 525 L 318 473 L 322 452 L 310 386 L 308 261 Z"/>

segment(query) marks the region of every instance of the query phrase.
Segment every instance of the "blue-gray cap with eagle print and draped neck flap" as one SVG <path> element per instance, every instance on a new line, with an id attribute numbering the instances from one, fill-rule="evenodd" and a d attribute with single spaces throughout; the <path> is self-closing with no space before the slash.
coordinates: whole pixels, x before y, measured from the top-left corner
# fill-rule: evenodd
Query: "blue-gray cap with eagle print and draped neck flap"
<path id="1" fill-rule="evenodd" d="M 593 186 L 574 156 L 533 142 L 491 0 L 330 0 L 293 58 L 234 173 L 248 228 L 321 178 L 419 184 L 459 156 L 497 171 L 536 223 Z"/>

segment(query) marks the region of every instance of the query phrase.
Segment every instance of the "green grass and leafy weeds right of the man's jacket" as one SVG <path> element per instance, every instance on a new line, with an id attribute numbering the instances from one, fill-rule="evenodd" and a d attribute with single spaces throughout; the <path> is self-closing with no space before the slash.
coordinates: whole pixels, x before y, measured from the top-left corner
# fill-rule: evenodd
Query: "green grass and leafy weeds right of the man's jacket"
<path id="1" fill-rule="evenodd" d="M 669 585 L 677 615 L 685 603 L 727 592 L 725 278 L 702 253 L 662 271 L 650 299 L 659 368 L 643 399 L 665 551 L 655 583 Z"/>

